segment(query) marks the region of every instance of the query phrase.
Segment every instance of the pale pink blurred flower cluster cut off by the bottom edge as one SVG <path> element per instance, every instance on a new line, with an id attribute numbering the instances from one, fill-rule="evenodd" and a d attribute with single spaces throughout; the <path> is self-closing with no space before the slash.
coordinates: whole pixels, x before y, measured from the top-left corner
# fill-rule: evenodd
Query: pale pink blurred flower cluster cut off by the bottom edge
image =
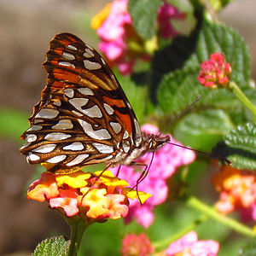
<path id="1" fill-rule="evenodd" d="M 191 231 L 179 240 L 172 242 L 166 249 L 166 255 L 214 256 L 217 255 L 218 248 L 217 241 L 198 241 L 195 231 Z"/>

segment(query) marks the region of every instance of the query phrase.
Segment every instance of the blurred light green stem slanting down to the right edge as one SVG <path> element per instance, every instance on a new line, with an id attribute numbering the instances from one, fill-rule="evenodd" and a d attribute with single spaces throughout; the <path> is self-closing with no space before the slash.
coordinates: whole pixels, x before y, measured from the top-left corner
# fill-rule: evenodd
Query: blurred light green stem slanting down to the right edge
<path id="1" fill-rule="evenodd" d="M 189 197 L 187 204 L 189 207 L 193 207 L 196 210 L 205 213 L 208 217 L 217 220 L 219 223 L 224 224 L 225 226 L 244 236 L 256 237 L 256 233 L 253 231 L 253 229 L 248 228 L 246 225 L 241 224 L 233 218 L 221 215 L 213 207 L 209 207 L 207 204 L 203 203 L 194 196 Z"/>

